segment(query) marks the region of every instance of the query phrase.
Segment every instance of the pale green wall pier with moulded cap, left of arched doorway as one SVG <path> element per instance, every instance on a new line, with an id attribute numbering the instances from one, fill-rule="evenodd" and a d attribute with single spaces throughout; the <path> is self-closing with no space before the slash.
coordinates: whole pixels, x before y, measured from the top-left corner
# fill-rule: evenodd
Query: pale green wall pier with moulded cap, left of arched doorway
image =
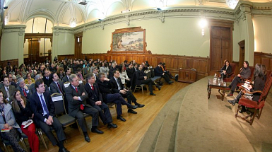
<path id="1" fill-rule="evenodd" d="M 23 64 L 25 25 L 7 25 L 1 39 L 1 61 L 18 59 Z"/>

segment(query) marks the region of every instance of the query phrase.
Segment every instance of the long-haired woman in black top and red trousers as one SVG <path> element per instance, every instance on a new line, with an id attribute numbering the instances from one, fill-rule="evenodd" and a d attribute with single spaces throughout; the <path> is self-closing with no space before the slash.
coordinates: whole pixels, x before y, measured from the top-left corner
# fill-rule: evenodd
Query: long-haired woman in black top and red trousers
<path id="1" fill-rule="evenodd" d="M 20 95 L 20 90 L 16 90 L 13 93 L 13 102 L 11 103 L 13 112 L 16 118 L 16 122 L 19 124 L 20 129 L 22 129 L 23 133 L 28 136 L 28 142 L 30 145 L 30 151 L 39 151 L 39 138 L 35 134 L 36 127 L 35 124 L 32 123 L 28 127 L 25 127 L 22 123 L 28 121 L 28 119 L 32 119 L 34 114 L 30 110 L 30 103 Z"/>

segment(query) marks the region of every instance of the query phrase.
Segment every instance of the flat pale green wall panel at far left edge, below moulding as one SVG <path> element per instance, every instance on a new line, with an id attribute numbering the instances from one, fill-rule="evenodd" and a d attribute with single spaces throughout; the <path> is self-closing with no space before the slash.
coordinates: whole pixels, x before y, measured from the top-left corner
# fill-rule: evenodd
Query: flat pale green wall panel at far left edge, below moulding
<path id="1" fill-rule="evenodd" d="M 1 61 L 18 59 L 18 33 L 3 33 L 1 37 Z"/>

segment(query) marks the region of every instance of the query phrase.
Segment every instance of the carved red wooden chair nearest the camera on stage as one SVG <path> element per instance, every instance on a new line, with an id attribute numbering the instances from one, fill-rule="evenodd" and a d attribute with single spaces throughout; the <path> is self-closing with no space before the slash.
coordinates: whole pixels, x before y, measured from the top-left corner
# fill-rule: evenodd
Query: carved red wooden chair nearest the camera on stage
<path id="1" fill-rule="evenodd" d="M 267 71 L 267 74 L 266 74 L 266 83 L 265 83 L 263 91 L 256 90 L 254 92 L 249 92 L 248 90 L 243 89 L 242 87 L 240 87 L 246 93 L 249 93 L 249 94 L 261 93 L 261 96 L 260 96 L 260 98 L 259 98 L 258 101 L 249 100 L 248 98 L 240 98 L 239 103 L 238 103 L 237 112 L 235 114 L 235 118 L 240 117 L 243 120 L 245 120 L 246 122 L 248 122 L 250 125 L 252 125 L 255 117 L 257 117 L 258 119 L 260 119 L 261 112 L 263 110 L 264 103 L 266 101 L 266 97 L 268 95 L 268 92 L 269 92 L 269 90 L 271 88 L 271 84 L 272 84 L 271 74 L 272 74 L 271 71 Z M 240 107 L 242 107 L 242 105 L 248 108 L 249 115 L 246 115 L 246 116 L 238 115 L 238 111 L 239 111 Z"/>

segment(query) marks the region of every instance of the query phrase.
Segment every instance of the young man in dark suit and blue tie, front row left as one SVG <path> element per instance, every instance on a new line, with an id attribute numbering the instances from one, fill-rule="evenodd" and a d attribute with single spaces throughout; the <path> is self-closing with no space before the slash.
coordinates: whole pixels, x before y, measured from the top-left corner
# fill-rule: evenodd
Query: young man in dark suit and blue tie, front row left
<path id="1" fill-rule="evenodd" d="M 67 152 L 64 147 L 66 136 L 62 129 L 62 124 L 55 117 L 55 107 L 49 93 L 45 92 L 45 84 L 41 79 L 35 81 L 36 92 L 30 97 L 30 107 L 34 113 L 34 122 L 45 132 L 53 146 L 59 146 L 59 151 Z M 50 129 L 52 127 L 57 134 L 58 141 Z"/>

